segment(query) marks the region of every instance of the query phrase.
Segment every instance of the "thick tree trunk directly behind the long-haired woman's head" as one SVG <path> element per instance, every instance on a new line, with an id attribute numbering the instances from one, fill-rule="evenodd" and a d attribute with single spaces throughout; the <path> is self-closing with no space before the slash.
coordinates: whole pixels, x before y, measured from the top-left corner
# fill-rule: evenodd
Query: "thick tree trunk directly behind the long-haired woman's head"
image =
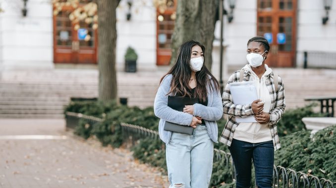
<path id="1" fill-rule="evenodd" d="M 177 59 L 179 46 L 187 40 L 196 40 L 205 46 L 205 65 L 212 66 L 217 0 L 178 0 L 176 20 L 172 35 L 170 64 Z"/>

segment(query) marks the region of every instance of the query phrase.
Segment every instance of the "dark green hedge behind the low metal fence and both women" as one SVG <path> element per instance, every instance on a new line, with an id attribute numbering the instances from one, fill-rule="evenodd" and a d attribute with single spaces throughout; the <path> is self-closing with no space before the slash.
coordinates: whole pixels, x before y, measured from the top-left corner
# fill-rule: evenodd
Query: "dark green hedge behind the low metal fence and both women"
<path id="1" fill-rule="evenodd" d="M 278 131 L 280 137 L 282 137 L 280 138 L 282 149 L 276 152 L 275 164 L 284 167 L 291 167 L 294 170 L 305 170 L 305 172 L 308 172 L 307 170 L 312 169 L 311 174 L 317 175 L 318 177 L 330 178 L 335 181 L 336 178 L 330 175 L 330 173 L 333 172 L 332 169 L 336 168 L 336 166 L 331 167 L 331 163 L 333 163 L 333 160 L 335 161 L 336 156 L 335 137 L 333 137 L 334 140 L 328 140 L 328 142 L 334 144 L 323 144 L 320 146 L 320 142 L 317 141 L 322 139 L 322 137 L 318 137 L 321 132 L 314 136 L 315 142 L 312 142 L 309 140 L 309 132 L 305 130 L 304 124 L 301 121 L 301 119 L 306 116 L 324 115 L 320 113 L 314 113 L 312 107 L 312 105 L 309 105 L 304 108 L 285 111 L 282 119 L 278 123 Z M 89 138 L 90 136 L 96 136 L 104 146 L 121 146 L 123 142 L 120 126 L 121 122 L 136 124 L 156 131 L 158 130 L 159 118 L 154 115 L 153 108 L 146 108 L 141 110 L 137 107 L 118 106 L 115 102 L 102 103 L 81 101 L 71 102 L 65 111 L 105 118 L 105 121 L 96 123 L 95 125 L 90 125 L 85 120 L 81 120 L 75 129 L 75 133 L 85 139 Z M 218 121 L 219 136 L 224 129 L 224 125 L 225 120 L 222 118 Z M 322 142 L 325 143 L 323 139 Z M 161 140 L 153 139 L 141 139 L 138 143 L 139 144 L 131 149 L 133 150 L 133 156 L 142 162 L 161 167 L 163 171 L 166 172 L 167 166 L 164 143 Z M 306 143 L 306 145 L 304 143 Z M 307 143 L 310 143 L 310 145 L 308 146 Z M 312 145 L 313 143 L 315 143 L 315 145 Z M 312 147 L 315 146 L 320 147 L 313 149 Z M 227 147 L 221 143 L 215 144 L 215 148 L 228 151 Z M 333 148 L 334 155 L 331 155 L 331 158 L 325 161 L 327 157 L 324 156 L 324 154 L 330 152 L 329 150 L 332 150 Z M 312 153 L 316 154 L 313 155 Z M 307 164 L 307 161 L 309 161 L 308 164 L 310 164 L 310 166 Z M 319 168 L 313 168 L 315 163 L 319 165 L 319 168 L 321 168 L 322 171 L 325 171 L 324 174 L 321 170 L 319 170 Z M 214 161 L 214 169 L 211 179 L 211 187 L 213 188 L 234 187 L 231 179 L 231 167 L 223 168 L 223 165 L 223 161 Z"/>

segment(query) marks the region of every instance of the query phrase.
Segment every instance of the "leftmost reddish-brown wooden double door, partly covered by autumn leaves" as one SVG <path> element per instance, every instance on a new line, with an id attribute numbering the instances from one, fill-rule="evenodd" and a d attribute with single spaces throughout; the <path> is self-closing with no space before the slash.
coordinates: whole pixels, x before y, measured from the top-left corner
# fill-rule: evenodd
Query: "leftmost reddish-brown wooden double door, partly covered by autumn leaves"
<path id="1" fill-rule="evenodd" d="M 83 3 L 87 2 L 82 0 L 79 6 Z M 97 30 L 93 29 L 92 23 L 87 24 L 84 20 L 71 22 L 69 15 L 73 10 L 72 6 L 63 6 L 54 15 L 54 62 L 96 64 Z"/>

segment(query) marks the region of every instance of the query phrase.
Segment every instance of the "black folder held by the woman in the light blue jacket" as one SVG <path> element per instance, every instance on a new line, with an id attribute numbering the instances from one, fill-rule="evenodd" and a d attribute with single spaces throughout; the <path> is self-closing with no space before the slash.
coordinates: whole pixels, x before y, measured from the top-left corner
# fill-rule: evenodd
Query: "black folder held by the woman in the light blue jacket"
<path id="1" fill-rule="evenodd" d="M 199 103 L 198 98 L 168 96 L 168 107 L 176 111 L 183 112 L 185 105 L 193 105 L 195 103 Z M 179 125 L 168 121 L 165 123 L 164 130 L 189 135 L 194 133 L 194 128 L 191 126 Z"/>

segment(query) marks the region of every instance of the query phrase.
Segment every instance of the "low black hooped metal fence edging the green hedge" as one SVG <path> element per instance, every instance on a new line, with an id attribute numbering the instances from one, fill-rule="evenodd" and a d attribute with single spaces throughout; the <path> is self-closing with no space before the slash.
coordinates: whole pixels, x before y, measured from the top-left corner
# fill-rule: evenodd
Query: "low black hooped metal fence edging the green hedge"
<path id="1" fill-rule="evenodd" d="M 74 123 L 75 121 L 68 121 L 68 118 L 85 119 L 91 125 L 97 122 L 104 121 L 104 119 L 94 116 L 83 115 L 80 113 L 66 113 L 66 122 Z M 67 127 L 73 127 L 76 125 L 68 125 Z M 138 125 L 132 125 L 128 123 L 121 123 L 123 139 L 126 143 L 134 146 L 140 139 L 152 138 L 159 139 L 159 132 L 147 129 Z M 224 162 L 224 168 L 232 169 L 232 179 L 235 181 L 235 169 L 231 154 L 223 150 L 214 149 L 214 160 Z M 256 185 L 256 184 L 255 184 Z M 325 178 L 318 178 L 316 176 L 308 175 L 303 172 L 296 172 L 290 168 L 284 168 L 282 166 L 274 166 L 273 168 L 273 188 L 336 188 L 336 182 L 332 182 Z"/>

